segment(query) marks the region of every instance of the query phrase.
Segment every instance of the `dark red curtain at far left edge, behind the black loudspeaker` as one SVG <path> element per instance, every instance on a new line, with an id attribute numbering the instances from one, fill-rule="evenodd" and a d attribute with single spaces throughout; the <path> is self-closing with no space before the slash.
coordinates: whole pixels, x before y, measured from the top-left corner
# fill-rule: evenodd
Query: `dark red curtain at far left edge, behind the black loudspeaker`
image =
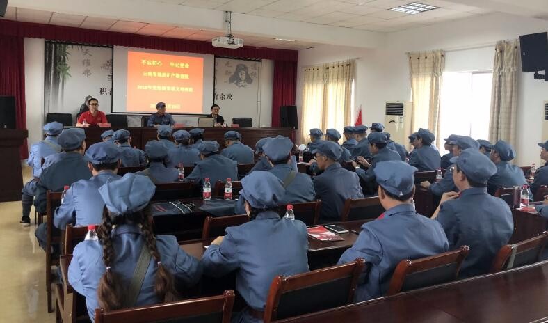
<path id="1" fill-rule="evenodd" d="M 0 35 L 0 95 L 15 97 L 17 129 L 26 129 L 25 56 L 22 37 Z M 29 157 L 26 140 L 21 146 L 21 159 Z"/>

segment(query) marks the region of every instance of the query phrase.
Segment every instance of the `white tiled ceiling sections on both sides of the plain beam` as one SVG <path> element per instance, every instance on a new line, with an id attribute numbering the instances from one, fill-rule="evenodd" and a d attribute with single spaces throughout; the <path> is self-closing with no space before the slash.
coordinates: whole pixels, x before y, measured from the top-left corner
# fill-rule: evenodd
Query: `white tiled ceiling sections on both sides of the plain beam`
<path id="1" fill-rule="evenodd" d="M 315 25 L 344 27 L 360 31 L 389 33 L 419 26 L 437 24 L 453 19 L 490 13 L 475 6 L 456 4 L 444 0 L 424 0 L 421 3 L 440 6 L 419 15 L 405 15 L 388 10 L 412 1 L 405 0 L 144 0 L 150 3 L 168 3 L 184 7 L 218 11 L 232 11 L 255 17 L 275 18 L 282 21 L 305 22 Z M 454 0 L 453 0 L 454 1 Z M 14 1 L 15 2 L 15 1 Z M 9 3 L 8 3 L 9 4 Z M 223 29 L 191 29 L 168 24 L 149 24 L 124 19 L 108 19 L 86 15 L 72 15 L 31 8 L 8 7 L 5 19 L 36 22 L 59 26 L 73 26 L 104 31 L 137 33 L 140 35 L 211 40 L 225 33 Z M 234 19 L 234 18 L 233 18 Z M 129 19 L 128 19 L 129 20 Z M 246 46 L 278 49 L 306 49 L 319 45 L 316 42 L 284 42 L 272 37 L 250 36 L 235 33 Z"/>

